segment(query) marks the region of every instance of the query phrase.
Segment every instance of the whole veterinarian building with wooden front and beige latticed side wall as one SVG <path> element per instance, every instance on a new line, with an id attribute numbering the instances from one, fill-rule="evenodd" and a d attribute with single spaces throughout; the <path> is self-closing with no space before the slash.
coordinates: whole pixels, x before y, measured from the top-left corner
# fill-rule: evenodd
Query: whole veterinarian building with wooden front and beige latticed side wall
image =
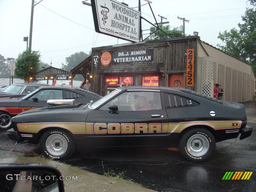
<path id="1" fill-rule="evenodd" d="M 199 36 L 92 48 L 87 64 L 92 91 L 102 96 L 118 85 L 183 87 L 212 96 L 218 83 L 224 89 L 223 100 L 254 98 L 252 67 Z"/>

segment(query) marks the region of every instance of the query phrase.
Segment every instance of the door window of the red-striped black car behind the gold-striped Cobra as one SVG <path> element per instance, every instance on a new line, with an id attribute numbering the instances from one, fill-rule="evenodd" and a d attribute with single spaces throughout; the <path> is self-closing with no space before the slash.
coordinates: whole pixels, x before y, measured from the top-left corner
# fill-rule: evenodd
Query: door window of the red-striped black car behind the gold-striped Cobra
<path id="1" fill-rule="evenodd" d="M 28 100 L 32 100 L 32 98 L 35 98 L 35 97 L 38 98 L 38 100 L 40 101 L 46 101 L 49 99 L 63 99 L 62 90 L 52 90 L 52 89 L 40 90 L 39 92 L 31 96 Z"/>

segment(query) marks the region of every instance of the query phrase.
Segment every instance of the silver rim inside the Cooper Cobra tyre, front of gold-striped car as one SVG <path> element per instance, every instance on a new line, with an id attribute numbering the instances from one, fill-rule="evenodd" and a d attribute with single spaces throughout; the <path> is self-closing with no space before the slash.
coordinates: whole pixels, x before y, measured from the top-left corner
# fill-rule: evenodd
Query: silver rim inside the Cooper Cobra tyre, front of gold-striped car
<path id="1" fill-rule="evenodd" d="M 45 146 L 51 155 L 61 156 L 68 149 L 68 141 L 60 134 L 52 134 L 47 138 Z"/>

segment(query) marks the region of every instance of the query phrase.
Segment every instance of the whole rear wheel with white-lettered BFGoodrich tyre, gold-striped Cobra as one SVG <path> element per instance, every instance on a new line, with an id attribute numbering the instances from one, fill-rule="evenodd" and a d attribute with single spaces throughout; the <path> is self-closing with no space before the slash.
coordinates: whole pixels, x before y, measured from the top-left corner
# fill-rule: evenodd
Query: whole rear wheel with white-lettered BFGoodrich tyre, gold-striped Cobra
<path id="1" fill-rule="evenodd" d="M 215 150 L 213 134 L 204 128 L 193 128 L 185 132 L 179 141 L 181 155 L 191 162 L 207 160 Z"/>

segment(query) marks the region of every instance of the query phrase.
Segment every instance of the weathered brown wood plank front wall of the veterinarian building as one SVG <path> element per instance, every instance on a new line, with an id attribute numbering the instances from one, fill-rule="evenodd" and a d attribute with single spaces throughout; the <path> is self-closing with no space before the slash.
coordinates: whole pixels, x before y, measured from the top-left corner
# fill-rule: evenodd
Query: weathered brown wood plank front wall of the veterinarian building
<path id="1" fill-rule="evenodd" d="M 142 84 L 142 76 L 143 75 L 156 75 L 159 76 L 159 86 L 168 87 L 169 83 L 169 74 L 183 74 L 184 75 L 184 84 L 186 83 L 186 56 L 184 55 L 187 52 L 187 49 L 194 49 L 194 74 L 197 74 L 196 63 L 197 63 L 197 38 L 193 39 L 183 39 L 177 41 L 163 41 L 163 42 L 152 42 L 152 43 L 138 43 L 138 44 L 129 44 L 124 46 L 116 46 L 116 47 L 106 47 L 106 48 L 94 48 L 92 50 L 92 58 L 94 56 L 98 56 L 98 64 L 94 65 L 92 62 L 92 91 L 96 92 L 100 95 L 105 95 L 105 82 L 104 82 L 104 74 L 98 74 L 98 71 L 102 71 L 108 66 L 113 65 L 112 62 L 104 67 L 100 62 L 100 56 L 103 52 L 126 52 L 126 51 L 136 51 L 136 50 L 145 50 L 145 49 L 154 49 L 153 61 L 151 62 L 134 62 L 133 65 L 145 66 L 147 65 L 158 65 L 160 66 L 158 71 L 143 71 L 138 70 L 136 72 L 130 71 L 130 73 L 134 76 L 134 85 Z M 123 66 L 127 65 L 127 63 L 120 63 Z M 143 68 L 142 68 L 143 69 Z M 117 71 L 107 71 L 109 75 L 115 76 Z M 126 74 L 129 72 L 126 72 Z M 117 76 L 117 75 L 116 75 Z M 194 75 L 194 87 L 186 87 L 191 90 L 195 90 L 196 88 L 196 75 Z"/>

